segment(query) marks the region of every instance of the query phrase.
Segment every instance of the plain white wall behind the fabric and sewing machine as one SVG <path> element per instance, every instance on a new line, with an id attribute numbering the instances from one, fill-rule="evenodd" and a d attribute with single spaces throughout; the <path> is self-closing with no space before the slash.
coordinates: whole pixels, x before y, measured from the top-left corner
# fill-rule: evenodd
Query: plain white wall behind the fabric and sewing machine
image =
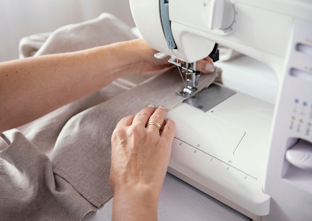
<path id="1" fill-rule="evenodd" d="M 0 62 L 18 58 L 19 40 L 112 13 L 134 26 L 129 0 L 0 0 Z"/>

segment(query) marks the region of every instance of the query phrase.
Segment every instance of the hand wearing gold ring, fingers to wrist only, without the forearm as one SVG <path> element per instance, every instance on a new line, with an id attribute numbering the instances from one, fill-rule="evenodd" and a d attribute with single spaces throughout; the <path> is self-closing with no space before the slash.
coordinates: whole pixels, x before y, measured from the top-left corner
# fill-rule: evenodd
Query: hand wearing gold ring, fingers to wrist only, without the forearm
<path id="1" fill-rule="evenodd" d="M 175 133 L 175 123 L 164 121 L 166 113 L 164 106 L 149 105 L 120 120 L 112 135 L 110 183 L 114 191 L 129 185 L 129 180 L 156 184 L 161 189 Z M 146 127 L 149 121 L 163 124 L 160 135 L 155 125 Z"/>

